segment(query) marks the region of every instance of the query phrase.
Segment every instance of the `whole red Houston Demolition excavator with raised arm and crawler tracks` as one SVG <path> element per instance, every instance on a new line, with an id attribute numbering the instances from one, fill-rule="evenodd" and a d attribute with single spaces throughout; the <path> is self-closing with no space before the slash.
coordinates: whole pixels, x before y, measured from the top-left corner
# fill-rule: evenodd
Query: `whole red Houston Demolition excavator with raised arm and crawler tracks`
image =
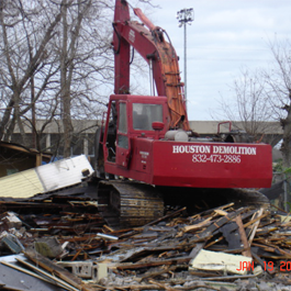
<path id="1" fill-rule="evenodd" d="M 270 187 L 271 146 L 231 130 L 209 138 L 193 133 L 175 48 L 163 29 L 133 11 L 142 23 L 131 20 L 125 0 L 115 1 L 114 94 L 97 134 L 104 217 L 111 225 L 141 225 L 161 216 L 165 202 L 191 208 L 206 198 L 266 205 L 261 194 L 242 188 Z M 131 47 L 153 69 L 157 96 L 130 93 Z"/>

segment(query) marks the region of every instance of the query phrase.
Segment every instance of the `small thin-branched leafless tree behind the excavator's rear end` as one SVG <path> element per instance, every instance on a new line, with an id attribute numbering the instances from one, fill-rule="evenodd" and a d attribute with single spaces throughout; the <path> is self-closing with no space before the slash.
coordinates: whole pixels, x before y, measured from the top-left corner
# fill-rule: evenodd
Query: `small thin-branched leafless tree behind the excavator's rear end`
<path id="1" fill-rule="evenodd" d="M 233 130 L 243 130 L 256 142 L 267 142 L 275 146 L 280 137 L 276 134 L 273 112 L 266 96 L 267 82 L 261 70 L 244 68 L 231 86 L 233 98 L 221 99 L 220 115 L 231 120 Z M 278 139 L 279 138 L 279 139 Z"/>

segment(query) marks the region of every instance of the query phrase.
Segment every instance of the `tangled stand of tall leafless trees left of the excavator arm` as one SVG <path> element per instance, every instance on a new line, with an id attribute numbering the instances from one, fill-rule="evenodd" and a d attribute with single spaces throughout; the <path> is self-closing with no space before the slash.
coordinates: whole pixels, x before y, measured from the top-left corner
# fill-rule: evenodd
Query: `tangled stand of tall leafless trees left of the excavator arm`
<path id="1" fill-rule="evenodd" d="M 58 153 L 70 155 L 79 137 L 72 121 L 100 119 L 113 91 L 113 2 L 0 0 L 0 139 L 10 141 L 18 128 L 31 146 L 29 126 L 41 149 L 54 122 L 64 132 Z"/>

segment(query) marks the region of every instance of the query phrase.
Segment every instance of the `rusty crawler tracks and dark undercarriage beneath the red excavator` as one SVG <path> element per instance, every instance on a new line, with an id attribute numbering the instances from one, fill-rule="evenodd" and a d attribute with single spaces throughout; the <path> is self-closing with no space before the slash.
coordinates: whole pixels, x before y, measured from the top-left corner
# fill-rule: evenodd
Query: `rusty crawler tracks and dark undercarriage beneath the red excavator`
<path id="1" fill-rule="evenodd" d="M 234 208 L 270 206 L 267 197 L 255 190 L 153 187 L 122 180 L 101 180 L 98 186 L 98 210 L 114 230 L 157 220 L 164 215 L 165 205 L 187 206 L 192 215 L 231 202 Z"/>

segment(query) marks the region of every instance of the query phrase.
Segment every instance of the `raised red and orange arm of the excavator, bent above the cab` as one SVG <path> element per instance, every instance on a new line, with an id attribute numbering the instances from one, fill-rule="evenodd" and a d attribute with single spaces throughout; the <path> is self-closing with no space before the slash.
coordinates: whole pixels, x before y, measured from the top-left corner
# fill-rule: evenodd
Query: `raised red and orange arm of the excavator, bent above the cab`
<path id="1" fill-rule="evenodd" d="M 167 97 L 170 128 L 182 127 L 184 131 L 190 131 L 176 51 L 165 40 L 164 30 L 155 26 L 139 9 L 134 9 L 134 13 L 143 23 L 131 21 L 128 3 L 116 0 L 113 22 L 114 92 L 115 94 L 130 93 L 132 46 L 152 67 L 157 94 Z"/>

